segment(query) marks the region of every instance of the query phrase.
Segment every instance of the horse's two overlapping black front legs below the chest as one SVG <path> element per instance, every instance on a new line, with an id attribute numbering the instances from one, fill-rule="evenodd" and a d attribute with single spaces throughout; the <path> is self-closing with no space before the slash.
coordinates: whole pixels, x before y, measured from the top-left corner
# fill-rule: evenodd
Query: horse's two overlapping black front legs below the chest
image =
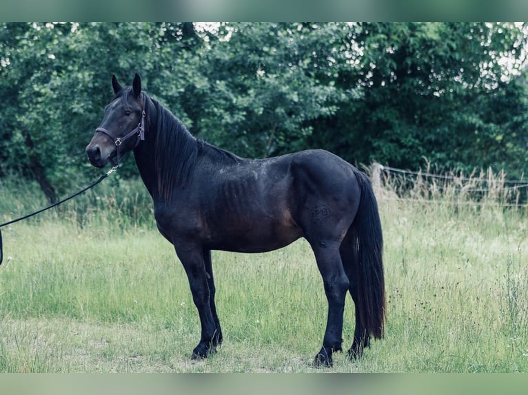
<path id="1" fill-rule="evenodd" d="M 189 244 L 174 244 L 176 254 L 178 255 L 192 292 L 192 300 L 198 309 L 201 323 L 201 339 L 192 351 L 191 359 L 207 358 L 209 354 L 216 351 L 216 346 L 221 341 L 221 335 L 217 330 L 214 314 L 211 309 L 211 290 L 209 288 L 204 254 L 201 246 L 192 246 Z M 209 266 L 209 265 L 207 265 Z M 213 304 L 214 306 L 214 304 Z"/>

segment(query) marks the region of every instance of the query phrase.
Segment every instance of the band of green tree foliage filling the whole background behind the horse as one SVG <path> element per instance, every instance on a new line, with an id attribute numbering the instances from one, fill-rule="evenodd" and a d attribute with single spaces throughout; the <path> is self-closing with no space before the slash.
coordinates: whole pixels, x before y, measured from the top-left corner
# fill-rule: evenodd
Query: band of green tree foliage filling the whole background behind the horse
<path id="1" fill-rule="evenodd" d="M 511 23 L 1 23 L 0 177 L 63 195 L 98 175 L 84 147 L 111 74 L 134 72 L 193 134 L 241 156 L 323 147 L 518 177 L 527 37 Z M 135 175 L 128 158 L 119 176 Z"/>

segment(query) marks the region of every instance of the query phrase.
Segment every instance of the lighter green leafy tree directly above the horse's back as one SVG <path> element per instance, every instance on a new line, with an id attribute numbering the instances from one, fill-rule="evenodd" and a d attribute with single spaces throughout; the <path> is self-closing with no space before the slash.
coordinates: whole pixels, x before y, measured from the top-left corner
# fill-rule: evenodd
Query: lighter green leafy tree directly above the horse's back
<path id="1" fill-rule="evenodd" d="M 321 81 L 332 26 L 231 23 L 202 50 L 201 78 L 185 87 L 191 130 L 252 158 L 305 147 L 310 120 L 336 111 Z"/>

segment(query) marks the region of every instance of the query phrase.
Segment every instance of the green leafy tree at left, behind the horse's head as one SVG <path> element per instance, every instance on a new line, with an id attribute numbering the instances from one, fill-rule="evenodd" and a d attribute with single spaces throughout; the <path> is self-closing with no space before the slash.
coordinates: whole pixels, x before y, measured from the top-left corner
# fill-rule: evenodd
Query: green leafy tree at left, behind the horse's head
<path id="1" fill-rule="evenodd" d="M 170 72 L 194 40 L 185 24 L 3 23 L 0 34 L 0 176 L 15 171 L 39 182 L 50 202 L 72 180 L 93 174 L 84 147 L 112 97 L 110 76 Z M 186 43 L 182 43 L 186 41 Z M 181 67 L 183 69 L 183 67 Z M 160 72 L 160 70 L 163 70 Z M 152 78 L 150 87 L 165 86 Z M 161 95 L 166 89 L 159 89 Z M 168 92 L 169 96 L 173 96 Z M 177 96 L 172 97 L 177 99 Z M 121 175 L 135 173 L 125 163 Z M 57 192 L 56 192 L 57 191 Z"/>

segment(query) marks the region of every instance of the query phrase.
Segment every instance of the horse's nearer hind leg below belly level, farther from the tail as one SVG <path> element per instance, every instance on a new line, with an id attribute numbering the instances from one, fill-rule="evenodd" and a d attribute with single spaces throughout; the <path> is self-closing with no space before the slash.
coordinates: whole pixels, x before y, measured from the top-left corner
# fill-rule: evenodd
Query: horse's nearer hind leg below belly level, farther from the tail
<path id="1" fill-rule="evenodd" d="M 341 264 L 338 242 L 316 242 L 312 244 L 317 266 L 323 277 L 328 300 L 328 317 L 323 347 L 315 356 L 315 364 L 332 366 L 332 353 L 343 351 L 343 312 L 349 281 Z"/>

